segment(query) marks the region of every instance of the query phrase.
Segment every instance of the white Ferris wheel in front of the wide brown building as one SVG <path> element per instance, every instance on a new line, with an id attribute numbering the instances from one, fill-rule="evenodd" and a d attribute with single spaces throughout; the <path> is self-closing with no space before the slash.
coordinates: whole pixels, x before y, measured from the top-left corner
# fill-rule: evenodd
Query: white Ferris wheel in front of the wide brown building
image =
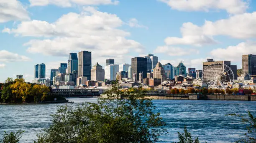
<path id="1" fill-rule="evenodd" d="M 222 63 L 210 64 L 204 69 L 203 80 L 207 83 L 208 88 L 226 89 L 234 81 L 234 73 L 230 67 Z"/>

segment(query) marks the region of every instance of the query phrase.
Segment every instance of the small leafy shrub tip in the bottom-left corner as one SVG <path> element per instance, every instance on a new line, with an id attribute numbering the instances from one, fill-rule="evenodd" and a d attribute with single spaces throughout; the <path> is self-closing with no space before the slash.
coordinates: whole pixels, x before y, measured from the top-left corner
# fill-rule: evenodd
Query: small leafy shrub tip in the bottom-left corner
<path id="1" fill-rule="evenodd" d="M 0 140 L 0 143 L 19 143 L 21 134 L 24 131 L 18 130 L 16 133 L 11 132 L 10 134 L 6 133 L 3 135 L 3 139 Z"/>

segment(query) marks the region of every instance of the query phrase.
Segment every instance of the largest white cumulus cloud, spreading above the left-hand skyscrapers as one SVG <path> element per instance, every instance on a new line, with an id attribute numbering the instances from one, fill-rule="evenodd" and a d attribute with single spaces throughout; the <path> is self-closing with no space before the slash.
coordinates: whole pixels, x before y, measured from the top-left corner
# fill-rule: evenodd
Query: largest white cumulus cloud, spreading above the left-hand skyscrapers
<path id="1" fill-rule="evenodd" d="M 25 43 L 30 53 L 64 57 L 69 52 L 88 50 L 97 59 L 119 56 L 123 60 L 130 51 L 140 53 L 144 49 L 139 42 L 126 39 L 129 32 L 118 29 L 124 24 L 117 15 L 84 7 L 81 13 L 70 12 L 53 23 L 32 20 L 21 22 L 16 29 L 5 28 L 5 31 L 20 36 L 46 37 Z"/>

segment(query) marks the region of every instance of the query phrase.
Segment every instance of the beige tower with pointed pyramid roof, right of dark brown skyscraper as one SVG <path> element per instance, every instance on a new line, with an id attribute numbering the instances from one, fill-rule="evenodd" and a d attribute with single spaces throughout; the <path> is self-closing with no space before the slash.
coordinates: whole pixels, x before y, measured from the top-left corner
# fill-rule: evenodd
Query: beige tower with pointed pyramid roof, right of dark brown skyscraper
<path id="1" fill-rule="evenodd" d="M 92 81 L 104 81 L 105 71 L 100 64 L 95 64 L 91 69 Z"/>

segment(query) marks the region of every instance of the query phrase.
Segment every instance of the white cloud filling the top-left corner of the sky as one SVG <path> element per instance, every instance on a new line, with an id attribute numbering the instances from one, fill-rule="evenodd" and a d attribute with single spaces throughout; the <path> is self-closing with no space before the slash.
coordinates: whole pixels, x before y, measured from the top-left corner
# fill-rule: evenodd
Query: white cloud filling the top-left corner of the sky
<path id="1" fill-rule="evenodd" d="M 0 23 L 29 19 L 26 8 L 18 0 L 0 0 Z"/>

